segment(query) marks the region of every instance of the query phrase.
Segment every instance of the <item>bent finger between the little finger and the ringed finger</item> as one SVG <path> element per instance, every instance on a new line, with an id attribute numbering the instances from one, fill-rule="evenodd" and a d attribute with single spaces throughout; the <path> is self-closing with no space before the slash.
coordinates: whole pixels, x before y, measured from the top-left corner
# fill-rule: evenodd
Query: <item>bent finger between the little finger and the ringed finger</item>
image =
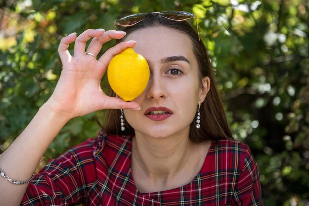
<path id="1" fill-rule="evenodd" d="M 84 55 L 86 43 L 93 37 L 99 37 L 104 34 L 104 29 L 87 29 L 83 33 L 81 33 L 75 40 L 74 45 L 74 56 L 76 55 Z"/>

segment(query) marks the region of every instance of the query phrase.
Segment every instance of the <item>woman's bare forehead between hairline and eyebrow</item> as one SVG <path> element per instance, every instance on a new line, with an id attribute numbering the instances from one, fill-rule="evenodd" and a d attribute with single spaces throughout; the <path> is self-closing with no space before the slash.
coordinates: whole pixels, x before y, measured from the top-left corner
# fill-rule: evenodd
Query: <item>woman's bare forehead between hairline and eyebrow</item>
<path id="1" fill-rule="evenodd" d="M 178 30 L 163 26 L 147 27 L 128 34 L 125 40 L 136 40 L 133 49 L 150 61 L 177 55 L 187 57 L 190 62 L 195 61 L 189 36 Z"/>

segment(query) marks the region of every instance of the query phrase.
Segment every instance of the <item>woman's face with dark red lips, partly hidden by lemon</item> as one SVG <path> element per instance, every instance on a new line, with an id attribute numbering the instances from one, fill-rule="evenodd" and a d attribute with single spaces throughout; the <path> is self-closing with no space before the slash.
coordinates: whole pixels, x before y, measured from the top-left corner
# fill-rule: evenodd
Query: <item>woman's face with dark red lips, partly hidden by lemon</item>
<path id="1" fill-rule="evenodd" d="M 133 49 L 145 57 L 150 69 L 148 85 L 135 99 L 141 110 L 124 110 L 126 121 L 136 135 L 163 138 L 189 134 L 198 102 L 204 101 L 209 89 L 209 78 L 202 81 L 198 77 L 190 38 L 156 26 L 139 29 L 125 40 L 137 41 Z"/>

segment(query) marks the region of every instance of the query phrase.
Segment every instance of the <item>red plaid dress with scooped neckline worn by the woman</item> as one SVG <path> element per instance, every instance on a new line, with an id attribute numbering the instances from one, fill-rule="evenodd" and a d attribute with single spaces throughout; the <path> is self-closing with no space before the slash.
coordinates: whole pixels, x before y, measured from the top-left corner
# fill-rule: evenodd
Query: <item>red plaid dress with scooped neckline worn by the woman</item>
<path id="1" fill-rule="evenodd" d="M 248 146 L 213 141 L 200 173 L 180 188 L 141 193 L 131 171 L 131 137 L 99 134 L 52 159 L 28 185 L 27 206 L 258 206 L 259 171 Z"/>

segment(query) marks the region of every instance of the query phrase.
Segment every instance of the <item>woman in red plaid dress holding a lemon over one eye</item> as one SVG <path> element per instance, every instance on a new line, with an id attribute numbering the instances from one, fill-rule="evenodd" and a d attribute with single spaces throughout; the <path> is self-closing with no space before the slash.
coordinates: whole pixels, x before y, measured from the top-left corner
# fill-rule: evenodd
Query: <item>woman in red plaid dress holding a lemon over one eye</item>
<path id="1" fill-rule="evenodd" d="M 206 48 L 185 21 L 191 17 L 138 14 L 116 22 L 125 32 L 98 29 L 64 37 L 54 93 L 0 157 L 1 204 L 259 205 L 257 164 L 246 145 L 229 140 Z M 120 43 L 97 60 L 111 39 Z M 127 47 L 146 58 L 151 73 L 132 102 L 100 88 L 110 60 Z M 111 110 L 97 138 L 51 160 L 30 182 L 7 181 L 29 179 L 66 122 L 100 109 Z"/>

